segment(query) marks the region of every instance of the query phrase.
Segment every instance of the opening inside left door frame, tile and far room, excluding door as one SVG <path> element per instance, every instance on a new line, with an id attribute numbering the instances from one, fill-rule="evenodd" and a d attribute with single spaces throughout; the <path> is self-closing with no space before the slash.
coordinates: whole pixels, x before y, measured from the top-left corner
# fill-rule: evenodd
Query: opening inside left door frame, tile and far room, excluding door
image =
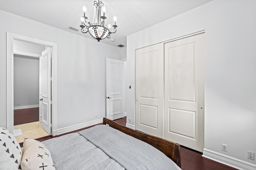
<path id="1" fill-rule="evenodd" d="M 49 134 L 42 128 L 40 114 L 40 56 L 44 45 L 14 41 L 14 136 L 38 139 Z"/>

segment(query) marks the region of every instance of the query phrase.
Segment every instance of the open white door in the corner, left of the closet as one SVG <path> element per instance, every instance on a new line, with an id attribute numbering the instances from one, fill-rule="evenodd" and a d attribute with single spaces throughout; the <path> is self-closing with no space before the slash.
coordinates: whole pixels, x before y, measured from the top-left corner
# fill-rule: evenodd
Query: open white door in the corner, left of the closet
<path id="1" fill-rule="evenodd" d="M 106 58 L 106 117 L 111 120 L 124 117 L 123 61 Z"/>

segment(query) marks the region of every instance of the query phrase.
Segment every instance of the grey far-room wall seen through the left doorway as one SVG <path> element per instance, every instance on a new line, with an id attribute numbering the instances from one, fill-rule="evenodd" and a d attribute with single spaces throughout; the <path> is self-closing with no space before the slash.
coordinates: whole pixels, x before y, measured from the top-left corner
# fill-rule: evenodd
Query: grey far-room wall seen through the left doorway
<path id="1" fill-rule="evenodd" d="M 14 107 L 39 105 L 39 58 L 14 55 L 13 74 Z"/>

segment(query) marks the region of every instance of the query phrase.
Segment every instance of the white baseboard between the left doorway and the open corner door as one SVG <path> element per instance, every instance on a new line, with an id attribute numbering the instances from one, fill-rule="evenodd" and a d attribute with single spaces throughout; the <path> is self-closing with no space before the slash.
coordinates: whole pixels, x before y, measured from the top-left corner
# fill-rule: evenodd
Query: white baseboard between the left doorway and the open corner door
<path id="1" fill-rule="evenodd" d="M 103 118 L 97 119 L 97 120 L 94 120 L 94 121 L 88 121 L 86 123 L 80 123 L 80 124 L 77 124 L 77 125 L 56 129 L 56 130 L 52 131 L 53 132 L 52 136 L 61 135 L 63 133 L 68 133 L 68 132 L 71 132 L 71 131 L 75 131 L 77 129 L 82 129 L 84 127 L 96 125 L 96 124 L 99 124 L 99 123 L 102 123 L 102 122 L 103 122 Z"/>

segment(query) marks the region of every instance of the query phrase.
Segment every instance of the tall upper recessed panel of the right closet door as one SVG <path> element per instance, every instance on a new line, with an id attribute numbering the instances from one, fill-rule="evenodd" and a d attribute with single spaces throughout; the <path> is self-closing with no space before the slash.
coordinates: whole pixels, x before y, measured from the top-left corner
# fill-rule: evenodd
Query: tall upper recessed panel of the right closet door
<path id="1" fill-rule="evenodd" d="M 169 48 L 168 54 L 169 100 L 195 102 L 194 43 Z"/>

